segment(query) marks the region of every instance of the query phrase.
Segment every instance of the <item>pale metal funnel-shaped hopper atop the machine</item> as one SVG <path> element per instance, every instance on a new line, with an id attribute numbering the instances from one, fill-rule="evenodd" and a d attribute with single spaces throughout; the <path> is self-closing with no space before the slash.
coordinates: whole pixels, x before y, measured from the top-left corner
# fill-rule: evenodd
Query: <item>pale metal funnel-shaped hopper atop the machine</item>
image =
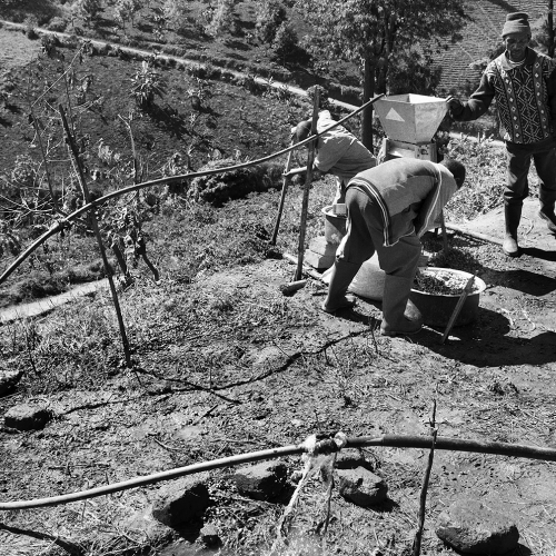
<path id="1" fill-rule="evenodd" d="M 375 102 L 386 136 L 414 145 L 429 142 L 447 112 L 445 99 L 395 95 Z"/>

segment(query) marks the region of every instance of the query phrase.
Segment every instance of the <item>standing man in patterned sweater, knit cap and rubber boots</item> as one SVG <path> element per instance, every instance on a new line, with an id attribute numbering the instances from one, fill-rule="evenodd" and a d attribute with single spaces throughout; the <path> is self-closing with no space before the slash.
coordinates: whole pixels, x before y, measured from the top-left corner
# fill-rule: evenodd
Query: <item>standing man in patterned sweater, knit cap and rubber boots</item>
<path id="1" fill-rule="evenodd" d="M 469 100 L 463 103 L 448 97 L 446 101 L 455 120 L 469 121 L 483 116 L 496 99 L 507 160 L 503 250 L 517 257 L 517 228 L 529 192 L 532 159 L 539 178 L 538 216 L 556 232 L 556 62 L 528 47 L 527 13 L 508 13 L 502 37 L 506 51 L 487 66 Z"/>

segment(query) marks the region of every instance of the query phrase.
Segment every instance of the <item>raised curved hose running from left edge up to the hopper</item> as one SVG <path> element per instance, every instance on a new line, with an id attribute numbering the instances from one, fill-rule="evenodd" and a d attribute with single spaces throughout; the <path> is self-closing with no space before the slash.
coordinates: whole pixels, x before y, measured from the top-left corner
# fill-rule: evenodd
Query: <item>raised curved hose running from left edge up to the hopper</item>
<path id="1" fill-rule="evenodd" d="M 272 155 L 268 155 L 266 157 L 259 158 L 257 160 L 252 160 L 252 161 L 248 161 L 248 162 L 241 162 L 239 165 L 228 166 L 228 167 L 225 167 L 225 168 L 216 168 L 214 170 L 205 170 L 205 171 L 191 172 L 191 173 L 181 173 L 179 176 L 170 176 L 170 177 L 167 177 L 167 178 L 159 178 L 159 179 L 155 179 L 155 180 L 151 180 L 151 181 L 145 181 L 142 183 L 135 183 L 132 186 L 128 186 L 128 187 L 123 187 L 121 189 L 118 189 L 117 191 L 112 191 L 112 192 L 110 192 L 108 195 L 105 195 L 103 197 L 99 197 L 98 199 L 96 199 L 96 200 L 93 200 L 93 201 L 91 201 L 91 202 L 89 202 L 87 205 L 83 205 L 82 207 L 80 207 L 78 210 L 76 210 L 71 215 L 68 215 L 66 218 L 63 218 L 61 220 L 58 220 L 56 224 L 53 224 L 42 236 L 40 236 L 33 244 L 31 244 L 4 270 L 4 272 L 0 276 L 0 284 L 2 284 L 19 267 L 19 265 L 21 265 L 27 259 L 27 257 L 29 257 L 29 255 L 31 255 L 31 252 L 34 251 L 34 249 L 37 249 L 38 247 L 40 247 L 51 236 L 53 236 L 54 234 L 57 234 L 58 231 L 60 231 L 62 229 L 61 226 L 64 226 L 66 224 L 72 221 L 76 218 L 78 218 L 79 216 L 81 216 L 83 212 L 87 212 L 87 211 L 89 211 L 89 210 L 91 210 L 91 209 L 93 209 L 93 208 L 96 208 L 96 207 L 105 203 L 106 201 L 108 201 L 110 199 L 113 199 L 115 197 L 119 197 L 121 195 L 127 195 L 127 193 L 130 193 L 130 192 L 133 192 L 133 191 L 138 191 L 139 189 L 145 189 L 147 187 L 156 187 L 156 186 L 170 185 L 170 183 L 176 183 L 176 182 L 183 181 L 186 179 L 200 178 L 202 176 L 214 176 L 216 173 L 225 173 L 225 172 L 232 171 L 232 170 L 239 170 L 239 169 L 242 169 L 242 168 L 249 168 L 251 166 L 260 165 L 260 163 L 266 162 L 268 160 L 271 160 L 274 158 L 281 157 L 282 155 L 285 155 L 285 153 L 287 153 L 287 152 L 289 152 L 291 150 L 299 149 L 300 147 L 307 145 L 310 141 L 315 141 L 318 137 L 320 137 L 322 133 L 329 131 L 330 129 L 334 129 L 334 128 L 336 128 L 338 126 L 341 126 L 341 123 L 344 123 L 346 120 L 348 120 L 349 118 L 353 118 L 355 115 L 359 113 L 361 110 L 365 110 L 365 108 L 367 108 L 368 106 L 373 105 L 374 102 L 376 102 L 381 97 L 384 97 L 384 93 L 383 95 L 378 95 L 377 97 L 368 100 L 367 102 L 365 102 L 365 105 L 361 105 L 357 110 L 353 111 L 351 113 L 348 113 L 341 120 L 335 122 L 332 126 L 329 126 L 328 128 L 324 129 L 319 133 L 315 133 L 314 136 L 308 137 L 304 141 L 299 141 L 296 145 L 292 145 L 290 147 L 287 147 L 286 149 L 282 149 L 282 150 L 279 150 L 277 152 L 274 152 Z"/>

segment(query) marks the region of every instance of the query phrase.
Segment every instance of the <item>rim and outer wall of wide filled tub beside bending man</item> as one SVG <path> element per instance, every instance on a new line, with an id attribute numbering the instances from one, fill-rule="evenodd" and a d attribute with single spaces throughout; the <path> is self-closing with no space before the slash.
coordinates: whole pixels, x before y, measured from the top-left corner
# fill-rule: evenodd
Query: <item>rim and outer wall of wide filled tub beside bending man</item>
<path id="1" fill-rule="evenodd" d="M 473 275 L 464 272 L 463 270 L 454 270 L 451 268 L 436 268 L 427 267 L 427 272 L 451 272 L 463 278 L 469 279 Z M 475 277 L 475 291 L 469 294 L 461 307 L 461 310 L 456 319 L 454 326 L 464 326 L 474 322 L 479 312 L 479 297 L 480 292 L 485 291 L 486 284 Z M 445 327 L 456 308 L 460 295 L 446 295 L 446 294 L 428 294 L 411 289 L 409 299 L 415 304 L 423 315 L 423 319 L 427 326 Z"/>

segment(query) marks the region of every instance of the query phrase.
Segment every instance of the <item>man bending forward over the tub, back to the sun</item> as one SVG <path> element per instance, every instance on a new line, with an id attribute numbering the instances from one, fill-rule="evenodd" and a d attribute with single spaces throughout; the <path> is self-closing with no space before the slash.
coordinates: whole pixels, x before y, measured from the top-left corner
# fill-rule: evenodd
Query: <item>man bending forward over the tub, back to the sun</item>
<path id="1" fill-rule="evenodd" d="M 397 158 L 358 173 L 348 183 L 347 232 L 336 252 L 326 312 L 350 308 L 346 291 L 361 265 L 378 254 L 385 271 L 383 336 L 418 332 L 423 318 L 417 308 L 406 312 L 419 262 L 419 237 L 435 221 L 451 196 L 464 185 L 465 167 L 445 158 L 440 163 Z"/>

